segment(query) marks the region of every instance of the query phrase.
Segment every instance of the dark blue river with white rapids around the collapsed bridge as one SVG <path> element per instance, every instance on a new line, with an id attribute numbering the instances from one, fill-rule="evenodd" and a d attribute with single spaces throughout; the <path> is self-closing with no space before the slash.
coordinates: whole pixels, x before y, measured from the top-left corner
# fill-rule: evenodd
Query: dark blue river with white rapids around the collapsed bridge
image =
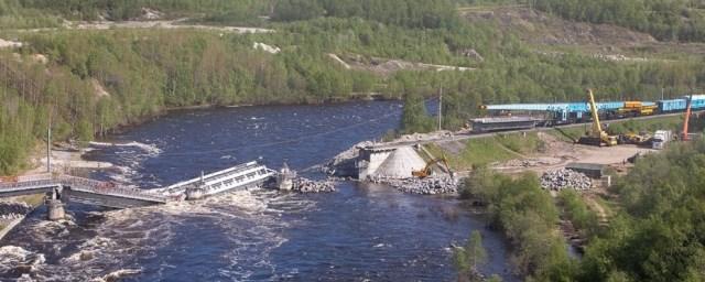
<path id="1" fill-rule="evenodd" d="M 305 176 L 352 144 L 397 128 L 401 106 L 175 111 L 118 134 L 87 159 L 116 170 L 91 176 L 142 188 L 238 163 L 286 161 Z M 69 204 L 72 219 L 37 209 L 2 241 L 0 280 L 29 281 L 452 281 L 452 242 L 480 230 L 487 274 L 509 274 L 501 237 L 452 197 L 340 182 L 337 192 L 249 191 L 124 210 Z"/>

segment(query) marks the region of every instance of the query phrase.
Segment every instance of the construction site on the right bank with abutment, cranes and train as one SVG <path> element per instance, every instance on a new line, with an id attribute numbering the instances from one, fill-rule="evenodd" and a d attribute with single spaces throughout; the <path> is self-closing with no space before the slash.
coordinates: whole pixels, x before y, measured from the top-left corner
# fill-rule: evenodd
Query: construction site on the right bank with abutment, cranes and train
<path id="1" fill-rule="evenodd" d="M 457 193 L 463 177 L 480 166 L 505 174 L 534 172 L 551 192 L 604 188 L 639 158 L 696 138 L 690 120 L 705 107 L 699 95 L 597 102 L 588 89 L 585 97 L 584 102 L 481 106 L 488 117 L 470 120 L 464 130 L 362 142 L 337 155 L 326 171 L 424 195 Z M 679 130 L 658 128 L 658 122 L 651 131 L 616 130 L 623 128 L 620 122 L 661 119 L 675 120 Z"/>

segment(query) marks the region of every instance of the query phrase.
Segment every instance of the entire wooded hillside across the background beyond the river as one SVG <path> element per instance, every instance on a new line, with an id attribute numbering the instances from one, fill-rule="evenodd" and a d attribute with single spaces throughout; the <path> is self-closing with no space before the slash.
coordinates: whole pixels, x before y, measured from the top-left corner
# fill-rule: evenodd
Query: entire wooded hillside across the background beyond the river
<path id="1" fill-rule="evenodd" d="M 33 140 L 43 137 L 50 112 L 57 140 L 90 140 L 166 108 L 323 102 L 366 93 L 429 96 L 443 87 L 448 96 L 446 127 L 455 128 L 482 102 L 578 100 L 585 87 L 598 88 L 603 99 L 650 99 L 662 88 L 677 96 L 702 84 L 698 61 L 685 59 L 702 52 L 696 43 L 662 43 L 626 29 L 574 23 L 521 6 L 458 12 L 448 1 L 437 1 L 436 8 L 426 9 L 411 0 L 397 6 L 312 0 L 315 13 L 307 13 L 305 6 L 291 8 L 293 0 L 268 9 L 236 9 L 223 1 L 198 8 L 186 0 L 178 6 L 174 3 L 180 1 L 138 1 L 128 6 L 137 11 L 129 17 L 116 13 L 127 7 L 101 1 L 80 7 L 3 1 L 0 19 L 51 28 L 39 18 L 56 18 L 65 28 L 26 32 L 18 29 L 21 24 L 3 25 L 10 29 L 0 39 L 23 46 L 0 50 L 6 78 L 0 95 L 8 101 L 0 117 L 0 140 L 6 140 L 0 171 L 23 166 Z M 400 12 L 401 6 L 414 9 Z M 375 7 L 376 13 L 360 12 Z M 225 23 L 248 23 L 234 18 L 214 29 L 194 23 L 230 13 L 254 17 L 259 22 L 249 23 L 268 32 L 230 32 L 237 29 Z M 153 14 L 161 20 L 147 17 Z M 429 20 L 415 21 L 414 14 Z M 195 18 L 166 20 L 181 17 Z M 100 21 L 84 22 L 93 19 Z M 257 50 L 258 44 L 281 52 Z M 605 59 L 610 56 L 649 59 L 617 64 Z M 409 120 L 415 124 L 404 124 L 404 131 L 431 128 L 426 118 Z"/>

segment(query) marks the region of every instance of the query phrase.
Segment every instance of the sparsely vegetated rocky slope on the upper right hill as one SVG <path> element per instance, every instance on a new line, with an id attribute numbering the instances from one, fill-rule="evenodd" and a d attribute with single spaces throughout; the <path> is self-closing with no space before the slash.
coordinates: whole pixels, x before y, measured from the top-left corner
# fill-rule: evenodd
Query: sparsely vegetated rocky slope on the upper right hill
<path id="1" fill-rule="evenodd" d="M 686 59 L 705 55 L 704 43 L 659 41 L 649 33 L 608 23 L 565 20 L 524 6 L 463 9 L 471 23 L 497 24 L 536 52 L 575 51 L 612 61 Z"/>

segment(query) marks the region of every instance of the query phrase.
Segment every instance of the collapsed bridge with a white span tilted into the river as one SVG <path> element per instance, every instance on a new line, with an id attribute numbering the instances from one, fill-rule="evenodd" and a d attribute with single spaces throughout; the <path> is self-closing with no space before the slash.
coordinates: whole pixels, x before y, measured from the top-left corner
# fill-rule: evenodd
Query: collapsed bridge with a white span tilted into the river
<path id="1" fill-rule="evenodd" d="M 58 220 L 64 218 L 64 205 L 68 202 L 109 208 L 162 205 L 236 189 L 262 187 L 273 181 L 275 175 L 275 171 L 250 162 L 165 188 L 140 189 L 111 182 L 47 173 L 0 177 L 0 197 L 45 194 L 48 219 Z"/>

